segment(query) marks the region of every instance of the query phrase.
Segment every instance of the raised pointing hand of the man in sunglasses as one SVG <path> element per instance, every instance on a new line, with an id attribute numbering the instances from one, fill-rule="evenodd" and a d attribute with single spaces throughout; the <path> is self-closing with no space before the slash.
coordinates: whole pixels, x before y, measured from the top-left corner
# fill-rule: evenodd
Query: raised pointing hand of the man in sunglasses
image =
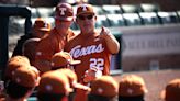
<path id="1" fill-rule="evenodd" d="M 106 38 L 106 37 L 110 37 L 111 35 L 112 34 L 109 29 L 106 29 L 104 26 L 101 27 L 100 37 Z"/>

